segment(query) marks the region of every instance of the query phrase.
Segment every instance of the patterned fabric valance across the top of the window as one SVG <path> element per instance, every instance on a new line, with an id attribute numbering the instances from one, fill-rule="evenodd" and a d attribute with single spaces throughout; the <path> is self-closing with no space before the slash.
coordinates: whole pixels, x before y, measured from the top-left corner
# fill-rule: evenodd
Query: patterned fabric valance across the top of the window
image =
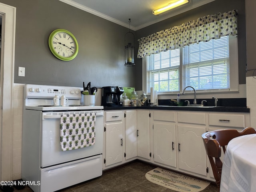
<path id="1" fill-rule="evenodd" d="M 215 15 L 207 15 L 193 22 L 156 32 L 140 38 L 138 58 L 161 51 L 181 48 L 190 44 L 226 35 L 237 35 L 236 10 Z"/>

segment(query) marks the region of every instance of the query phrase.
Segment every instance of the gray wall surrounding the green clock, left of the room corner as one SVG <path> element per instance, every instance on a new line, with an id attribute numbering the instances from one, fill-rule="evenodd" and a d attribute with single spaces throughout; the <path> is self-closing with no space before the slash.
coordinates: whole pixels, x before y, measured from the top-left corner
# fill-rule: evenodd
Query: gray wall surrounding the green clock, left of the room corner
<path id="1" fill-rule="evenodd" d="M 125 67 L 128 28 L 58 0 L 0 0 L 16 7 L 14 83 L 79 86 L 135 86 L 135 68 Z M 48 46 L 50 33 L 66 29 L 78 40 L 74 60 L 58 60 Z M 25 77 L 18 76 L 25 67 Z"/>

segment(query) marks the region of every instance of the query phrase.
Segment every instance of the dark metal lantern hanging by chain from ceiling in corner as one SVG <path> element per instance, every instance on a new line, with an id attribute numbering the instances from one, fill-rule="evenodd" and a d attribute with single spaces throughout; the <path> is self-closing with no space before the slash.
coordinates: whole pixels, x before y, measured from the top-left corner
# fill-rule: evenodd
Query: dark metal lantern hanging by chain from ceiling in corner
<path id="1" fill-rule="evenodd" d="M 129 19 L 129 32 L 127 32 L 124 36 L 124 44 L 125 44 L 125 64 L 124 64 L 124 66 L 126 66 L 126 67 L 135 66 L 135 64 L 134 64 L 134 34 L 132 32 L 130 32 L 130 23 L 131 23 L 131 19 Z M 133 36 L 133 44 L 129 42 L 128 45 L 126 45 L 126 35 L 129 33 L 132 34 L 132 36 Z"/>

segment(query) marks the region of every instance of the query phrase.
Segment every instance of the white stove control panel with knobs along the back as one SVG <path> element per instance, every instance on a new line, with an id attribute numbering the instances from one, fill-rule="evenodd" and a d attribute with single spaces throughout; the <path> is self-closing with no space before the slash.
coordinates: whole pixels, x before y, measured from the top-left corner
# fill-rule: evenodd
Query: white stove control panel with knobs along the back
<path id="1" fill-rule="evenodd" d="M 24 98 L 53 98 L 55 95 L 64 95 L 68 99 L 81 99 L 79 87 L 49 86 L 49 85 L 24 85 Z"/>

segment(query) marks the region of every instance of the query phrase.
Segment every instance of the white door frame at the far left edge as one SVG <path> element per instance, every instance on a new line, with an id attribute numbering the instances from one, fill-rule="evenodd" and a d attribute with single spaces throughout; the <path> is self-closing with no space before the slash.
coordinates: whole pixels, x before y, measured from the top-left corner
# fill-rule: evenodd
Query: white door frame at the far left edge
<path id="1" fill-rule="evenodd" d="M 0 180 L 12 180 L 14 43 L 16 8 L 0 3 Z M 4 90 L 4 91 L 3 91 Z"/>

